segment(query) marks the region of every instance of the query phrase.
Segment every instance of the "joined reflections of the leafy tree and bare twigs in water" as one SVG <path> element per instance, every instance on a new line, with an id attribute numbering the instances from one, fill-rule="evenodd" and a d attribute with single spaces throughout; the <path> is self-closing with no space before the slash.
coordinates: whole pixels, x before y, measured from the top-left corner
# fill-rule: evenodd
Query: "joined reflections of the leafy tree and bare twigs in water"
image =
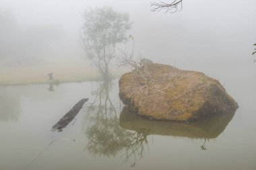
<path id="1" fill-rule="evenodd" d="M 94 101 L 88 106 L 84 131 L 89 142 L 85 149 L 91 155 L 106 157 L 115 157 L 123 151 L 123 162 L 127 162 L 131 156 L 136 161 L 137 157 L 143 157 L 148 135 L 145 131 L 134 132 L 119 126 L 119 114 L 109 96 L 112 87 L 111 80 L 100 83 Z M 134 165 L 135 162 L 131 166 Z"/>

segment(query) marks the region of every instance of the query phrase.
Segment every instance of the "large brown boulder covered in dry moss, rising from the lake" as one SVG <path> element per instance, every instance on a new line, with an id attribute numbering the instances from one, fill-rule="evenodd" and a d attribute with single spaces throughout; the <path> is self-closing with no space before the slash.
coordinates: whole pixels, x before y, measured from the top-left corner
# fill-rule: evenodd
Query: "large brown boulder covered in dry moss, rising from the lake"
<path id="1" fill-rule="evenodd" d="M 119 97 L 129 110 L 154 120 L 190 122 L 238 108 L 217 80 L 156 63 L 123 75 Z"/>

